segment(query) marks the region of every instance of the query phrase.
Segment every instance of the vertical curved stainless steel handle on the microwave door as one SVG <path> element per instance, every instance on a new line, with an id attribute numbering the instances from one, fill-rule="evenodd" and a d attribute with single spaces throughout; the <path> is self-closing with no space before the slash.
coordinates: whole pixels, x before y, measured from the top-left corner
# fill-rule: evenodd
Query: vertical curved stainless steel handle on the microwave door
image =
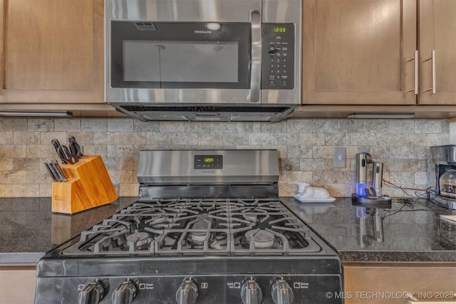
<path id="1" fill-rule="evenodd" d="M 249 101 L 259 102 L 261 85 L 261 15 L 259 11 L 250 11 L 250 26 L 252 31 L 252 60 L 250 70 Z"/>

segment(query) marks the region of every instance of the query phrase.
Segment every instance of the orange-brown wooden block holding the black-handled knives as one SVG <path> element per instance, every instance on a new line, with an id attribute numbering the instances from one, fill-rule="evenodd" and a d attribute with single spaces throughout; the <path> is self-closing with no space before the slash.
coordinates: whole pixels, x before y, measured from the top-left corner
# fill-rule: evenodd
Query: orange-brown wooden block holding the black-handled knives
<path id="1" fill-rule="evenodd" d="M 61 164 L 68 182 L 52 183 L 53 212 L 76 214 L 118 199 L 100 155 L 84 155 L 76 164 Z"/>

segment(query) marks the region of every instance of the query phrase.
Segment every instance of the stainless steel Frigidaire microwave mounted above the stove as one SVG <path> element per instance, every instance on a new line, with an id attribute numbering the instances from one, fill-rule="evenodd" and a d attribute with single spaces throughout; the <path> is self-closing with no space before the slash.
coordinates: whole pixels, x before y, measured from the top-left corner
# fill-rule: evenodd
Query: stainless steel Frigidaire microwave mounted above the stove
<path id="1" fill-rule="evenodd" d="M 301 9 L 105 0 L 105 101 L 140 120 L 282 120 L 301 103 Z"/>

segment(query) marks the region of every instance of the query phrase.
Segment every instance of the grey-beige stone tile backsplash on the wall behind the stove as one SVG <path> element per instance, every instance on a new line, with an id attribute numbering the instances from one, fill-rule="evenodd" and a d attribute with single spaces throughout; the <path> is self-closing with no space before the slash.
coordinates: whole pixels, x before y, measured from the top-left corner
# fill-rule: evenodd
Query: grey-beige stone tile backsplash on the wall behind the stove
<path id="1" fill-rule="evenodd" d="M 281 196 L 297 182 L 350 196 L 357 148 L 384 163 L 383 177 L 414 189 L 433 187 L 429 147 L 446 145 L 446 120 L 286 120 L 269 122 L 141 122 L 130 118 L 1 118 L 0 196 L 51 196 L 43 162 L 57 159 L 51 139 L 76 137 L 84 154 L 100 154 L 120 196 L 137 196 L 140 150 L 277 149 Z M 333 148 L 345 147 L 346 167 L 333 168 Z M 414 195 L 414 190 L 407 190 Z M 383 194 L 404 196 L 383 184 Z"/>

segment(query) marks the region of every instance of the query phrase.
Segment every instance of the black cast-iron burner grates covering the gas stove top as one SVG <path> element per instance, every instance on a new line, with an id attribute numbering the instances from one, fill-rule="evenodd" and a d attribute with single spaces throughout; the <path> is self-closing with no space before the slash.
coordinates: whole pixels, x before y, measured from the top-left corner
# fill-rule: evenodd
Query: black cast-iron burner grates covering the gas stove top
<path id="1" fill-rule="evenodd" d="M 261 256 L 320 251 L 277 199 L 157 199 L 135 203 L 64 255 Z"/>

